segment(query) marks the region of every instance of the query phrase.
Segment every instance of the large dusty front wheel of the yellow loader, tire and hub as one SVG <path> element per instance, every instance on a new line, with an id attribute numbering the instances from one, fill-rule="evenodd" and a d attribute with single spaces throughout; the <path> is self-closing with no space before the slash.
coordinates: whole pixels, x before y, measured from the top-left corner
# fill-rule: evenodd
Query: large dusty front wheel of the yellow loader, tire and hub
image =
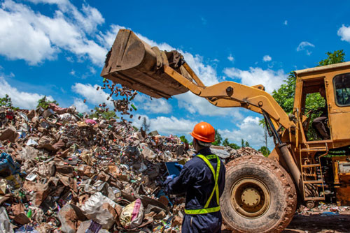
<path id="1" fill-rule="evenodd" d="M 263 156 L 242 156 L 228 163 L 226 170 L 221 196 L 226 225 L 234 232 L 259 233 L 281 232 L 288 226 L 297 194 L 281 165 Z"/>

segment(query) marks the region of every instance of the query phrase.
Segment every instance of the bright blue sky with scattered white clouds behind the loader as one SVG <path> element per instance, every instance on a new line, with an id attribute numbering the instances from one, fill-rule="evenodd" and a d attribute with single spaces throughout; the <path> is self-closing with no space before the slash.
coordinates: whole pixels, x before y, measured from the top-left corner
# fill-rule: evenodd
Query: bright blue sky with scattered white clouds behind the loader
<path id="1" fill-rule="evenodd" d="M 325 52 L 350 54 L 349 6 L 348 1 L 0 1 L 0 97 L 8 93 L 14 105 L 33 108 L 46 95 L 80 112 L 105 102 L 109 93 L 96 91 L 99 73 L 120 28 L 162 50 L 181 51 L 204 84 L 263 84 L 271 93 L 288 72 L 315 66 Z M 195 123 L 208 121 L 230 142 L 264 144 L 260 115 L 214 107 L 192 93 L 170 100 L 139 95 L 134 105 L 134 119 L 147 117 L 151 130 L 163 135 L 190 139 Z"/>

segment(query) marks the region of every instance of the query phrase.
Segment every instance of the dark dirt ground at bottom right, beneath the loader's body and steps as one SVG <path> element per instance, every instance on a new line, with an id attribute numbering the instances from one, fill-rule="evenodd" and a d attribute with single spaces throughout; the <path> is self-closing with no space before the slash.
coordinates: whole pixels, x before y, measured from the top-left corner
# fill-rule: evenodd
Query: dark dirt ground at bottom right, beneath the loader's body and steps
<path id="1" fill-rule="evenodd" d="M 295 214 L 292 222 L 282 233 L 344 233 L 350 232 L 350 211 L 338 216 L 309 216 Z"/>

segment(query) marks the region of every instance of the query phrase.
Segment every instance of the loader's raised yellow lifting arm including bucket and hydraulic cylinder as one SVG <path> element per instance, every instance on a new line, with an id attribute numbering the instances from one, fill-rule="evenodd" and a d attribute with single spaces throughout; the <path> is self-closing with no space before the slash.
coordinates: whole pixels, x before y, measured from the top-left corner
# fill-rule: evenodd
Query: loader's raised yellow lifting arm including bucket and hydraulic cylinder
<path id="1" fill-rule="evenodd" d="M 263 114 L 288 170 L 300 187 L 300 170 L 279 134 L 281 128 L 290 132 L 295 123 L 262 85 L 248 87 L 237 82 L 221 82 L 206 87 L 179 52 L 151 47 L 127 29 L 118 32 L 101 75 L 154 98 L 170 98 L 191 91 L 217 107 L 244 107 Z"/>

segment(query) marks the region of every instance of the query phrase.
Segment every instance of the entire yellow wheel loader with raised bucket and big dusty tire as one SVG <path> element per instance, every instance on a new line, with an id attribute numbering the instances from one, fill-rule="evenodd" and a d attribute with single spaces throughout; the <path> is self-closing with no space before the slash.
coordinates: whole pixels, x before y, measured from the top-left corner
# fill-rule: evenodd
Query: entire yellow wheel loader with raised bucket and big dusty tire
<path id="1" fill-rule="evenodd" d="M 350 62 L 295 71 L 293 114 L 265 88 L 237 82 L 205 86 L 179 52 L 161 51 L 120 29 L 101 75 L 153 98 L 191 91 L 217 107 L 244 107 L 265 118 L 276 144 L 268 158 L 241 156 L 226 165 L 223 220 L 235 232 L 281 232 L 297 203 L 336 198 L 350 204 Z M 325 90 L 325 140 L 309 140 L 307 96 Z"/>

